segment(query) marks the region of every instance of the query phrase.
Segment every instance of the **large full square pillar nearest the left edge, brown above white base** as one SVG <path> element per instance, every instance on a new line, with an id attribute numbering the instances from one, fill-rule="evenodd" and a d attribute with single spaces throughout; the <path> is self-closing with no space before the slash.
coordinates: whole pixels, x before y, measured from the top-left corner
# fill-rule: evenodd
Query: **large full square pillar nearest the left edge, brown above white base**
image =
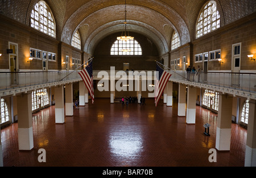
<path id="1" fill-rule="evenodd" d="M 32 128 L 32 96 L 24 93 L 17 96 L 19 150 L 34 148 Z"/>

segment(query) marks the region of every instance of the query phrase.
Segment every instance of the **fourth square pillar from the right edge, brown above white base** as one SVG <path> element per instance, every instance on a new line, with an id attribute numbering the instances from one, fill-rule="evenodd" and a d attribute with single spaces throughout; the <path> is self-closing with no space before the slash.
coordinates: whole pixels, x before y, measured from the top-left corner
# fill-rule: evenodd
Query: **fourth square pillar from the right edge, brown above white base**
<path id="1" fill-rule="evenodd" d="M 186 85 L 179 84 L 178 116 L 186 115 Z"/>

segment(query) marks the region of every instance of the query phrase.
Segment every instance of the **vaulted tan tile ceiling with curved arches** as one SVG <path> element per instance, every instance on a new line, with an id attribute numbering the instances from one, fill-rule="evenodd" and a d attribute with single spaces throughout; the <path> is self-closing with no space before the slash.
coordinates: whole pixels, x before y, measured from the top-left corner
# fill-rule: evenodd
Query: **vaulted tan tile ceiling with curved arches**
<path id="1" fill-rule="evenodd" d="M 30 23 L 36 0 L 3 0 L 0 13 L 21 23 Z M 92 53 L 105 36 L 123 30 L 125 0 L 46 0 L 56 21 L 56 38 L 71 44 L 79 30 L 83 51 Z M 171 35 L 177 31 L 181 45 L 195 39 L 195 26 L 204 0 L 126 0 L 127 29 L 147 36 L 160 54 L 170 51 Z M 255 11 L 253 0 L 219 0 L 221 26 Z"/>

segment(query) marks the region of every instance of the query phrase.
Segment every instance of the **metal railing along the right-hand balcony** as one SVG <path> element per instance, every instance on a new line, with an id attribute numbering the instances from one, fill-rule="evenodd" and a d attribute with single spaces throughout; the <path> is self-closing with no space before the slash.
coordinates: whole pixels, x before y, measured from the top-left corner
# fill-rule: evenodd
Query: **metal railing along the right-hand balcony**
<path id="1" fill-rule="evenodd" d="M 249 92 L 256 92 L 256 73 L 232 72 L 174 72 L 171 78 L 175 80 L 198 82 L 206 85 L 220 86 Z"/>

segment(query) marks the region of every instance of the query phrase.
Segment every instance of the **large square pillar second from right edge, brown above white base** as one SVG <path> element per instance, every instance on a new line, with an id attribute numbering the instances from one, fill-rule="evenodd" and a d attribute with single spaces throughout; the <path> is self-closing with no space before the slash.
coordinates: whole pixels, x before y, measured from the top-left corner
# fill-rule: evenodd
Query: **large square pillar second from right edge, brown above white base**
<path id="1" fill-rule="evenodd" d="M 230 150 L 233 97 L 220 94 L 218 100 L 218 119 L 216 148 L 219 151 Z"/>

